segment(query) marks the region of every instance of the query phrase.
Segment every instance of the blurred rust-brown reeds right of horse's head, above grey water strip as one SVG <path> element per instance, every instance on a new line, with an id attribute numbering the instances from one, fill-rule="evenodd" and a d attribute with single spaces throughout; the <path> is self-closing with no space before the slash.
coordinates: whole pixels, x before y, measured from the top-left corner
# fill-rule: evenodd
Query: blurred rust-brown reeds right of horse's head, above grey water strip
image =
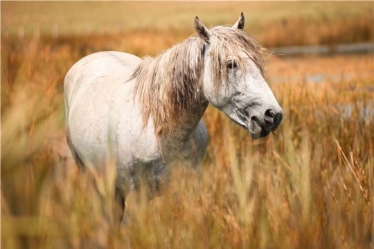
<path id="1" fill-rule="evenodd" d="M 258 39 L 269 47 L 373 42 L 373 23 L 371 10 L 339 20 L 332 20 L 328 16 L 321 16 L 317 20 L 290 17 L 261 26 Z"/>

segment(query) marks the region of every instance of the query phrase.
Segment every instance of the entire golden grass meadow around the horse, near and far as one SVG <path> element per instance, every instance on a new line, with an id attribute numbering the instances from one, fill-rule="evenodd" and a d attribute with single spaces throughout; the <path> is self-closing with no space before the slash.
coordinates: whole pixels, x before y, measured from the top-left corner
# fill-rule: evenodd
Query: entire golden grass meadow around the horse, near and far
<path id="1" fill-rule="evenodd" d="M 130 194 L 121 234 L 113 165 L 78 175 L 63 104 L 80 58 L 155 56 L 193 35 L 195 15 L 209 26 L 244 11 L 264 46 L 333 46 L 373 42 L 372 2 L 90 4 L 1 2 L 2 248 L 374 248 L 373 54 L 269 57 L 276 136 L 252 140 L 208 107 L 202 172 L 176 165 L 164 196 Z"/>

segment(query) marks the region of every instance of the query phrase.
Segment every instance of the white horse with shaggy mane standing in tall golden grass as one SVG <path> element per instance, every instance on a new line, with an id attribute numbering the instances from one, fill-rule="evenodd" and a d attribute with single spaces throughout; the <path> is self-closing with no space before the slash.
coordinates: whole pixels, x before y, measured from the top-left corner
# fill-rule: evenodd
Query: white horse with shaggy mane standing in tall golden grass
<path id="1" fill-rule="evenodd" d="M 208 104 L 226 113 L 252 138 L 278 128 L 283 110 L 264 80 L 256 39 L 233 26 L 208 30 L 196 17 L 197 37 L 139 59 L 94 53 L 66 74 L 66 139 L 80 171 L 116 162 L 121 214 L 128 192 L 141 181 L 150 198 L 168 181 L 175 160 L 199 170 L 208 133 Z M 122 216 L 121 216 L 122 219 Z"/>

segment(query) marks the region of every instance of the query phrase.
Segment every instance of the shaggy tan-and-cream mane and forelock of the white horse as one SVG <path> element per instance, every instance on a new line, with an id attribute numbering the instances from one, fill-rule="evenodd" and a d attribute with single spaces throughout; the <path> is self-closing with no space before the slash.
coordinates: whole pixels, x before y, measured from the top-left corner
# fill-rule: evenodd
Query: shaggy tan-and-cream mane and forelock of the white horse
<path id="1" fill-rule="evenodd" d="M 265 61 L 257 40 L 244 30 L 217 26 L 211 29 L 213 37 L 210 54 L 213 59 L 213 80 L 216 89 L 226 78 L 226 59 L 235 56 L 240 69 L 246 71 L 244 56 L 264 71 Z M 202 103 L 205 43 L 198 37 L 189 37 L 180 44 L 163 51 L 157 57 L 144 57 L 130 80 L 136 79 L 135 97 L 141 104 L 143 129 L 152 116 L 154 132 L 172 131 L 186 122 L 188 113 Z M 193 113 L 192 113 L 193 115 Z"/>

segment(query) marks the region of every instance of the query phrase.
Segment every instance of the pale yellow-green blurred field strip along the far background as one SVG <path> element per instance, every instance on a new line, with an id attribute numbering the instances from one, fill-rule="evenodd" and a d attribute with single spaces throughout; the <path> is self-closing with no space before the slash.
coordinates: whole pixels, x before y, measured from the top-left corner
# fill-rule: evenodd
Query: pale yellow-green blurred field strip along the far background
<path id="1" fill-rule="evenodd" d="M 310 21 L 329 21 L 373 15 L 368 1 L 314 2 L 136 2 L 136 1 L 5 1 L 1 3 L 1 26 L 5 33 L 17 34 L 20 26 L 32 35 L 39 26 L 40 33 L 51 35 L 54 26 L 68 35 L 118 33 L 138 28 L 193 29 L 197 15 L 206 25 L 234 24 L 244 12 L 248 27 L 256 28 L 269 22 L 290 17 Z M 192 18 L 191 18 L 192 17 Z"/>

